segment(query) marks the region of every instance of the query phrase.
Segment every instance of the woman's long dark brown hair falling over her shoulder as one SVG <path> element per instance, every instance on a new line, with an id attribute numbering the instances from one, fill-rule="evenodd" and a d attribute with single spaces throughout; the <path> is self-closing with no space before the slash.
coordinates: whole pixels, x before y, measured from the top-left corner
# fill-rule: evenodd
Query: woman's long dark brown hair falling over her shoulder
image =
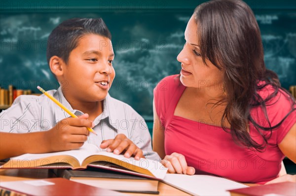
<path id="1" fill-rule="evenodd" d="M 222 128 L 227 131 L 223 122 L 228 121 L 230 133 L 237 144 L 253 147 L 258 151 L 264 150 L 268 141 L 264 131 L 272 133 L 296 109 L 296 102 L 281 87 L 277 75 L 265 67 L 260 30 L 253 11 L 241 0 L 211 0 L 197 6 L 194 17 L 204 64 L 209 59 L 224 72 L 224 90 L 227 96 L 216 103 L 226 103 Z M 271 85 L 274 91 L 262 98 L 258 91 L 267 85 Z M 266 105 L 280 89 L 290 97 L 291 111 L 278 124 L 271 126 Z M 250 110 L 255 107 L 262 108 L 266 126 L 260 125 L 251 117 Z M 257 143 L 250 137 L 249 122 L 260 133 L 263 143 Z"/>

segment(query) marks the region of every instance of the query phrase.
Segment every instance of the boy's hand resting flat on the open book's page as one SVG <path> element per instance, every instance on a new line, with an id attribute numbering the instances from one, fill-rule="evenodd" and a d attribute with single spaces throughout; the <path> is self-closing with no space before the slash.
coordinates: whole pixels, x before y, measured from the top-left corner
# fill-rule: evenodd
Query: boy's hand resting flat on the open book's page
<path id="1" fill-rule="evenodd" d="M 135 156 L 135 159 L 139 160 L 143 156 L 143 151 L 139 149 L 130 139 L 128 139 L 124 134 L 120 133 L 116 135 L 114 139 L 104 140 L 100 148 L 106 149 L 107 152 L 113 152 L 116 155 L 119 155 L 124 150 L 124 157 L 131 157 L 132 155 Z"/>

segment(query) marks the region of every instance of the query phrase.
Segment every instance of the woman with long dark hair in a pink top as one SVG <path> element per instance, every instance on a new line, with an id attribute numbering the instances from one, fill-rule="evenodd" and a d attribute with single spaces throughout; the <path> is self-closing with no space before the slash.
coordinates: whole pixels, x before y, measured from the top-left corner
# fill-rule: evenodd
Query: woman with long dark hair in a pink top
<path id="1" fill-rule="evenodd" d="M 285 156 L 296 162 L 296 102 L 265 68 L 250 7 L 239 0 L 197 6 L 185 40 L 180 75 L 154 89 L 153 150 L 168 171 L 295 181 L 278 174 Z"/>

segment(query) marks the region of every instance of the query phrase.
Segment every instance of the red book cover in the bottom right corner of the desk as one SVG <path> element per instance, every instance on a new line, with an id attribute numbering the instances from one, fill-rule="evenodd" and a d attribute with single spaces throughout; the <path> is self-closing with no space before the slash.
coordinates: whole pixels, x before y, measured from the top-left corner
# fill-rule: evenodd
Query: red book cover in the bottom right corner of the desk
<path id="1" fill-rule="evenodd" d="M 296 196 L 296 183 L 281 182 L 228 191 L 231 196 Z"/>

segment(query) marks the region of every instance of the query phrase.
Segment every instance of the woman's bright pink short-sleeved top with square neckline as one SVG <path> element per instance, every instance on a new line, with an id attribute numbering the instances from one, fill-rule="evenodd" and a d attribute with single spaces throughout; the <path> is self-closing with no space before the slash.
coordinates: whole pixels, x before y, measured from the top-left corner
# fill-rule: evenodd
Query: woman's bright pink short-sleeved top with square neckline
<path id="1" fill-rule="evenodd" d="M 264 152 L 240 147 L 222 127 L 174 116 L 177 103 L 185 90 L 177 76 L 162 79 L 154 89 L 156 112 L 165 127 L 166 155 L 174 152 L 184 155 L 187 164 L 196 169 L 196 174 L 214 174 L 239 182 L 259 184 L 278 177 L 281 161 L 285 157 L 278 144 L 296 123 L 296 111 L 273 130 Z M 258 93 L 266 97 L 270 92 L 272 88 L 269 86 Z M 271 125 L 275 125 L 289 113 L 291 103 L 282 90 L 271 102 L 273 104 L 266 106 L 266 110 Z M 251 116 L 260 125 L 267 125 L 259 107 L 252 109 Z M 258 131 L 252 123 L 249 124 L 252 139 L 261 142 Z M 270 135 L 270 131 L 266 133 Z"/>

